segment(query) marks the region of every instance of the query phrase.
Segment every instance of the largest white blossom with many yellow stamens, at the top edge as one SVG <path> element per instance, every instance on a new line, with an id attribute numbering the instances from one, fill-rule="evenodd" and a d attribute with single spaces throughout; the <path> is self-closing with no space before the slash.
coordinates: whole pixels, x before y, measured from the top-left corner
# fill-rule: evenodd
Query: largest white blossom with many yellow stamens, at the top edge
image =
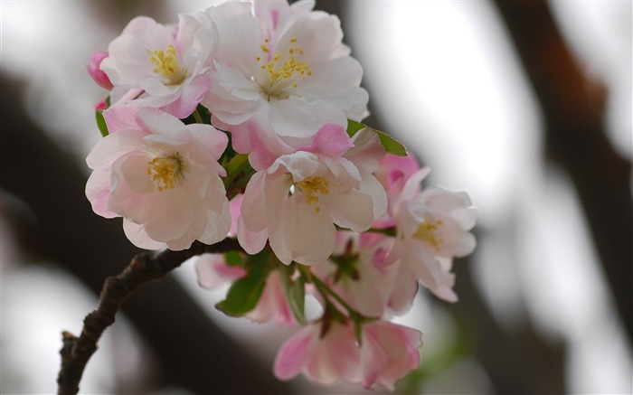
<path id="1" fill-rule="evenodd" d="M 202 104 L 213 125 L 232 133 L 238 152 L 250 152 L 242 133 L 255 116 L 277 136 L 306 144 L 318 127 L 363 117 L 368 95 L 362 68 L 342 42 L 340 21 L 312 11 L 314 1 L 228 2 L 206 10 L 218 26 L 213 85 Z"/>

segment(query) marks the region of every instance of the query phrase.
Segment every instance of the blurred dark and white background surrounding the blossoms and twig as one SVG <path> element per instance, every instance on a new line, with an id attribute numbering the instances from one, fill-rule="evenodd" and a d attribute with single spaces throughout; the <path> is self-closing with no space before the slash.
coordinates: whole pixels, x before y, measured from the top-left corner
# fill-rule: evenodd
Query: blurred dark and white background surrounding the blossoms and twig
<path id="1" fill-rule="evenodd" d="M 90 210 L 84 159 L 106 93 L 85 71 L 138 14 L 205 1 L 2 1 L 0 392 L 53 393 L 61 331 L 138 250 Z M 460 301 L 424 290 L 400 393 L 633 392 L 630 1 L 316 1 L 364 66 L 369 126 L 467 191 L 478 247 Z M 272 376 L 293 332 L 222 316 L 185 264 L 108 329 L 82 393 L 351 393 Z M 380 391 L 374 391 L 380 392 Z"/>

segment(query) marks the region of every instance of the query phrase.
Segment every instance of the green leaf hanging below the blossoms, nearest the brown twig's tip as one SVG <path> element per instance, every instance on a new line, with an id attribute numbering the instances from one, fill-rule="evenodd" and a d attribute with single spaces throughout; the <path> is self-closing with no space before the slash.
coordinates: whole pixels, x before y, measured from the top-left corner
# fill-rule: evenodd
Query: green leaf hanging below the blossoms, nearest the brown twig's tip
<path id="1" fill-rule="evenodd" d="M 269 274 L 269 252 L 251 255 L 246 266 L 249 273 L 236 280 L 229 288 L 226 298 L 215 305 L 225 315 L 241 316 L 250 312 L 260 302 Z"/>

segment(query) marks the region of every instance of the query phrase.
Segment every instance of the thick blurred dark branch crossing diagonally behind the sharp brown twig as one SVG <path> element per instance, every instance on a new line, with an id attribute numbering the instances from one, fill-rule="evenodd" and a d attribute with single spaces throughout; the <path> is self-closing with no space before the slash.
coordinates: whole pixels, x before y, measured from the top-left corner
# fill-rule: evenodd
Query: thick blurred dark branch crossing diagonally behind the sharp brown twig
<path id="1" fill-rule="evenodd" d="M 0 187 L 37 218 L 34 229 L 17 235 L 21 245 L 99 294 L 103 280 L 139 250 L 125 238 L 120 221 L 92 212 L 84 193 L 87 175 L 26 117 L 21 87 L 5 78 L 0 87 Z M 288 393 L 288 385 L 213 324 L 175 277 L 147 284 L 122 311 L 156 355 L 156 385 L 194 393 Z"/>

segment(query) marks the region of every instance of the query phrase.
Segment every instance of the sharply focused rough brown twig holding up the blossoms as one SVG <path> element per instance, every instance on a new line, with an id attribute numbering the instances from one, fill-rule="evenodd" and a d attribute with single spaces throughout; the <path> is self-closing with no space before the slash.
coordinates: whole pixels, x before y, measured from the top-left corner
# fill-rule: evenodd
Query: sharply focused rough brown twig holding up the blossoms
<path id="1" fill-rule="evenodd" d="M 190 249 L 182 251 L 165 249 L 154 256 L 147 253 L 138 254 L 120 274 L 108 277 L 99 296 L 99 305 L 84 319 L 80 336 L 76 337 L 69 332 L 62 334 L 61 369 L 57 377 L 57 393 L 76 394 L 79 392 L 81 376 L 90 357 L 97 351 L 101 334 L 109 325 L 114 324 L 120 306 L 139 287 L 165 277 L 185 260 L 203 252 L 221 253 L 240 249 L 237 240 L 230 238 L 213 246 L 196 241 Z"/>

